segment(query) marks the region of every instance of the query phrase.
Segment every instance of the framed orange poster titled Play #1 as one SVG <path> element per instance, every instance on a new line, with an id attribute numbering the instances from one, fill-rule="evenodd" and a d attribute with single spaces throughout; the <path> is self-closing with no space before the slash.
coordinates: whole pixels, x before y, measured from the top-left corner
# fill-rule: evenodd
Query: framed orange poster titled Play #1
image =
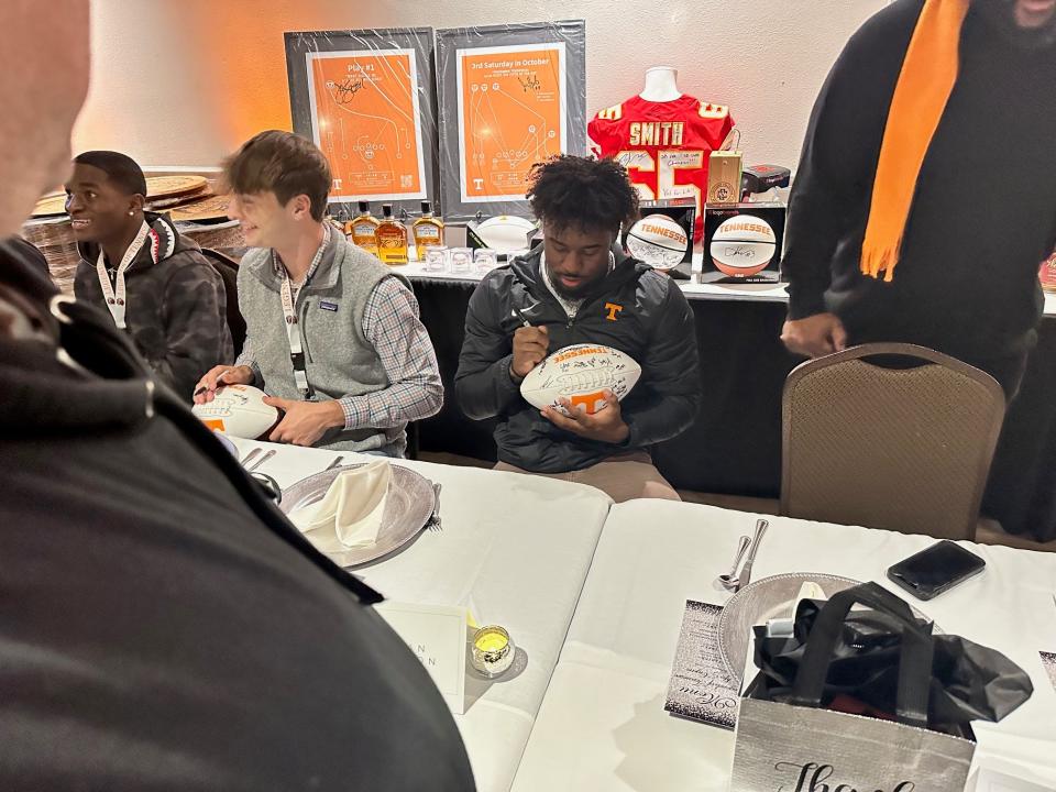
<path id="1" fill-rule="evenodd" d="M 330 163 L 334 217 L 360 200 L 375 215 L 437 202 L 431 29 L 286 33 L 286 68 L 294 131 Z"/>

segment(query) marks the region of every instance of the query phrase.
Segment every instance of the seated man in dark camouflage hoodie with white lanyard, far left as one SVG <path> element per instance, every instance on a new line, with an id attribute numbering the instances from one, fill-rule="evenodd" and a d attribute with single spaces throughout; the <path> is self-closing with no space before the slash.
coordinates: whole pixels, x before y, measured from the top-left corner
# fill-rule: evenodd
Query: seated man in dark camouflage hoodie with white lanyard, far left
<path id="1" fill-rule="evenodd" d="M 231 361 L 223 282 L 167 217 L 146 212 L 146 179 L 118 152 L 74 160 L 66 184 L 81 262 L 74 294 L 109 310 L 158 381 L 180 397 L 216 361 Z"/>

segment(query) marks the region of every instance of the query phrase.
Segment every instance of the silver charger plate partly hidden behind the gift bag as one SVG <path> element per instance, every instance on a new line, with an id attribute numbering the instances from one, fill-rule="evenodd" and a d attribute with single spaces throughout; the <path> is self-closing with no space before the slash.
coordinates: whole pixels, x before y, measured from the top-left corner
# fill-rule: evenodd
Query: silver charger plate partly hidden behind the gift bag
<path id="1" fill-rule="evenodd" d="M 757 624 L 766 624 L 769 619 L 788 616 L 800 587 L 811 582 L 817 583 L 826 597 L 861 583 L 850 578 L 821 572 L 790 572 L 749 583 L 726 603 L 718 617 L 718 653 L 738 689 L 744 681 L 748 645 L 755 640 L 751 628 Z M 931 622 L 913 605 L 910 605 L 910 609 L 917 618 Z M 942 632 L 938 625 L 935 625 L 934 630 Z"/>

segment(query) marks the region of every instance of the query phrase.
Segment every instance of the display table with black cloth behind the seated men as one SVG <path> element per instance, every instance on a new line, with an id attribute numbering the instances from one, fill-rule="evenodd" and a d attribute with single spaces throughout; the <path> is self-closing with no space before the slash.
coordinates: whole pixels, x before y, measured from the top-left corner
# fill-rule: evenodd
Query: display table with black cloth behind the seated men
<path id="1" fill-rule="evenodd" d="M 415 288 L 437 350 L 443 409 L 420 422 L 421 450 L 495 459 L 493 421 L 466 418 L 454 374 L 465 309 L 476 274 L 399 267 Z M 781 343 L 788 297 L 781 286 L 697 285 L 682 289 L 693 308 L 704 398 L 693 426 L 653 449 L 675 487 L 777 498 L 781 486 L 781 394 L 803 359 Z M 1041 340 L 1019 398 L 1010 406 L 987 495 L 988 516 L 1010 534 L 1056 539 L 1056 296 L 1046 295 Z"/>

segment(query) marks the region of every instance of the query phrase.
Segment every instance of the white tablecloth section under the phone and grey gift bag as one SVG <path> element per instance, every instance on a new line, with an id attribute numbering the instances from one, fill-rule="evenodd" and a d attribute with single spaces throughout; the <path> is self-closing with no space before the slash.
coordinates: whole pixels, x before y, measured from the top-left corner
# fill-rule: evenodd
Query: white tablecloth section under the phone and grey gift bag
<path id="1" fill-rule="evenodd" d="M 728 598 L 714 579 L 756 517 L 660 501 L 613 507 L 515 792 L 726 789 L 733 733 L 673 717 L 663 705 L 685 601 Z M 883 583 L 889 565 L 935 541 L 768 519 L 754 580 L 828 572 Z M 1031 674 L 1026 704 L 1001 724 L 976 725 L 977 761 L 1030 765 L 1056 788 L 1056 692 L 1038 657 L 1056 651 L 1056 554 L 970 547 L 986 572 L 913 604 L 946 632 L 1000 649 Z"/>

